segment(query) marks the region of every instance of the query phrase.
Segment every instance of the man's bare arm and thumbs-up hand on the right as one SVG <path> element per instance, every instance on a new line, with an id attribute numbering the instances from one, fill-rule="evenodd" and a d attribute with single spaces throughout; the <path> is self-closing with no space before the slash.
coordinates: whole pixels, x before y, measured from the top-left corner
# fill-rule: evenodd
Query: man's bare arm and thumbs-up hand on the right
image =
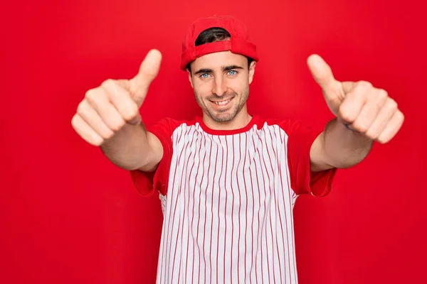
<path id="1" fill-rule="evenodd" d="M 365 81 L 335 80 L 330 66 L 319 55 L 310 56 L 307 63 L 336 116 L 312 144 L 313 171 L 357 165 L 368 155 L 374 141 L 387 143 L 396 135 L 404 123 L 404 114 L 384 89 Z"/>

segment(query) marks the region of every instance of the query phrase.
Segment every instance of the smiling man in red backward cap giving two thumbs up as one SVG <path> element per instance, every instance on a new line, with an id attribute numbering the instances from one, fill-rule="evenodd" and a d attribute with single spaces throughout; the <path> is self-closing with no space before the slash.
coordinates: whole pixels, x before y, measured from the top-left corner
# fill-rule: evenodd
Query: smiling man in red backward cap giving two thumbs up
<path id="1" fill-rule="evenodd" d="M 265 119 L 246 108 L 258 61 L 245 26 L 213 16 L 183 44 L 203 116 L 139 116 L 161 55 L 151 50 L 131 80 L 89 90 L 73 117 L 85 141 L 130 170 L 142 195 L 159 192 L 164 223 L 158 283 L 297 283 L 292 208 L 298 195 L 325 196 L 337 168 L 361 162 L 404 121 L 396 102 L 369 82 L 338 82 L 318 55 L 308 66 L 336 119 L 322 131 Z"/>

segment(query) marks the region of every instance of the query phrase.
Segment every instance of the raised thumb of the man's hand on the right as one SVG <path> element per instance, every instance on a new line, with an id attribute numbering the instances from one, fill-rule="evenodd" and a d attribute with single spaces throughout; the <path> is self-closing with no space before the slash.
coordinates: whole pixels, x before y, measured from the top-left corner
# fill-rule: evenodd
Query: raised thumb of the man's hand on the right
<path id="1" fill-rule="evenodd" d="M 335 80 L 331 67 L 327 65 L 325 60 L 319 55 L 313 54 L 307 59 L 307 65 L 313 79 L 322 88 L 325 97 L 337 95 L 340 84 Z"/>

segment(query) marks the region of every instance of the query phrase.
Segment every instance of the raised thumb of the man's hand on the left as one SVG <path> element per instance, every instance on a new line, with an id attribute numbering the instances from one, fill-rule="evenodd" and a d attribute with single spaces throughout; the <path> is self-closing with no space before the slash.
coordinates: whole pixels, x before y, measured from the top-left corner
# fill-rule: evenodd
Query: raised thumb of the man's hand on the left
<path id="1" fill-rule="evenodd" d="M 140 107 L 147 95 L 149 84 L 159 74 L 162 53 L 159 50 L 149 50 L 139 67 L 138 74 L 129 80 L 130 93 L 132 98 Z"/>

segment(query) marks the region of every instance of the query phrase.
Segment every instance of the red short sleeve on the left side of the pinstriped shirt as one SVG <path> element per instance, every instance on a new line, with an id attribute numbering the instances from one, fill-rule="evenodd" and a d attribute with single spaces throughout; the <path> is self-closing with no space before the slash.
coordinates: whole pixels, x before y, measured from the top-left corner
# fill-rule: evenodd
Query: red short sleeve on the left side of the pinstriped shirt
<path id="1" fill-rule="evenodd" d="M 171 119 L 162 119 L 152 126 L 147 126 L 147 131 L 153 133 L 162 143 L 163 157 L 153 172 L 130 170 L 133 185 L 142 196 L 151 196 L 155 191 L 162 195 L 167 193 L 167 181 L 172 159 L 172 124 Z"/>

